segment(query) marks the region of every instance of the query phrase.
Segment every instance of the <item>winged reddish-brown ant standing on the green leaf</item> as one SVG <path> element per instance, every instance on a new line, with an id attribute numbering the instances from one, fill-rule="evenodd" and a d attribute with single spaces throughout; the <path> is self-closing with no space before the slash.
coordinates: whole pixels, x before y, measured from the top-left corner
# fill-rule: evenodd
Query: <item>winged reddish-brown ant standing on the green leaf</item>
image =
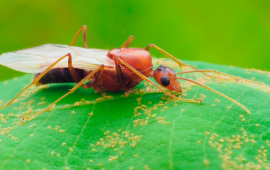
<path id="1" fill-rule="evenodd" d="M 84 48 L 74 47 L 73 44 L 77 40 L 79 34 L 83 31 Z M 46 109 L 35 113 L 31 117 L 25 117 L 26 120 L 31 120 L 37 115 L 50 110 L 57 102 L 64 97 L 73 93 L 77 88 L 94 88 L 95 91 L 100 92 L 103 90 L 117 91 L 128 90 L 138 85 L 142 80 L 154 85 L 160 91 L 173 99 L 182 100 L 186 102 L 201 103 L 201 99 L 184 99 L 176 97 L 163 88 L 155 84 L 147 77 L 154 77 L 156 82 L 162 87 L 171 91 L 182 92 L 178 79 L 186 80 L 202 86 L 212 92 L 215 92 L 226 99 L 236 103 L 243 108 L 247 113 L 250 111 L 234 99 L 215 91 L 214 89 L 196 82 L 191 79 L 176 77 L 177 74 L 201 72 L 209 77 L 213 77 L 205 72 L 213 72 L 224 76 L 229 76 L 232 79 L 239 80 L 242 78 L 218 72 L 216 70 L 198 70 L 197 68 L 184 64 L 168 52 L 159 48 L 154 44 L 150 44 L 146 49 L 130 48 L 129 45 L 133 40 L 130 36 L 121 48 L 115 48 L 110 51 L 89 49 L 86 44 L 86 26 L 82 26 L 75 35 L 69 46 L 47 44 L 30 49 L 20 50 L 16 52 L 5 53 L 0 56 L 0 64 L 7 67 L 23 71 L 37 73 L 33 82 L 25 87 L 17 96 L 10 102 L 0 107 L 3 109 L 9 106 L 17 97 L 19 97 L 26 89 L 32 85 L 48 84 L 48 83 L 64 83 L 76 82 L 77 84 L 65 95 L 50 104 Z M 170 67 L 160 65 L 153 71 L 152 57 L 149 53 L 150 48 L 155 48 L 167 57 L 175 61 L 180 68 L 189 67 L 194 70 L 175 73 Z M 59 54 L 65 54 L 59 58 Z M 107 53 L 107 55 L 106 55 Z M 12 56 L 15 56 L 12 59 Z M 61 55 L 60 55 L 61 56 Z M 21 57 L 21 58 L 20 58 Z M 40 60 L 42 58 L 42 60 Z M 68 60 L 67 60 L 68 58 Z M 66 62 L 68 66 L 66 66 Z M 38 67 L 34 67 L 37 66 Z M 54 68 L 54 69 L 53 69 Z M 54 76 L 52 76 L 54 75 Z M 88 83 L 84 84 L 86 81 Z M 244 81 L 253 82 L 251 80 L 242 79 Z"/>

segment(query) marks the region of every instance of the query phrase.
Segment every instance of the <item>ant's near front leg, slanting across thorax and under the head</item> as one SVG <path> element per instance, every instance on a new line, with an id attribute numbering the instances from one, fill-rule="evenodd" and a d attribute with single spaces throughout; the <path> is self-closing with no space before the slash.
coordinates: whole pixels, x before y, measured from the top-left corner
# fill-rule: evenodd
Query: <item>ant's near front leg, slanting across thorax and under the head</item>
<path id="1" fill-rule="evenodd" d="M 165 93 L 167 96 L 172 97 L 173 99 L 182 100 L 182 101 L 186 101 L 186 102 L 193 102 L 193 103 L 201 103 L 202 102 L 201 99 L 192 100 L 192 99 L 183 99 L 183 98 L 180 98 L 180 97 L 176 97 L 176 96 L 174 96 L 174 95 L 166 92 L 164 89 L 162 89 L 158 85 L 156 85 L 153 81 L 151 81 L 150 79 L 148 79 L 147 77 L 145 77 L 142 73 L 140 73 L 139 71 L 137 71 L 135 68 L 133 68 L 132 66 L 130 66 L 125 61 L 123 61 L 121 59 L 118 59 L 118 58 L 116 60 L 119 60 L 119 62 L 121 62 L 123 65 L 125 65 L 127 68 L 129 68 L 131 71 L 133 71 L 134 73 L 136 73 L 140 78 L 142 78 L 143 80 L 147 81 L 148 83 L 156 86 L 160 91 L 162 91 L 163 93 Z"/>

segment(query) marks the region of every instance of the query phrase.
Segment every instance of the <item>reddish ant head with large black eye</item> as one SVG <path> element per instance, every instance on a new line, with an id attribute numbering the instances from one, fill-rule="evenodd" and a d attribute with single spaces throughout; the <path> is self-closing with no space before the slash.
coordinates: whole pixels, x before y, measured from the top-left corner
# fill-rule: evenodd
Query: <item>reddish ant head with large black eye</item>
<path id="1" fill-rule="evenodd" d="M 181 86 L 176 79 L 176 74 L 174 70 L 170 67 L 160 65 L 155 71 L 154 71 L 154 78 L 158 84 L 162 85 L 163 87 L 172 90 L 177 91 L 181 93 L 182 89 Z"/>

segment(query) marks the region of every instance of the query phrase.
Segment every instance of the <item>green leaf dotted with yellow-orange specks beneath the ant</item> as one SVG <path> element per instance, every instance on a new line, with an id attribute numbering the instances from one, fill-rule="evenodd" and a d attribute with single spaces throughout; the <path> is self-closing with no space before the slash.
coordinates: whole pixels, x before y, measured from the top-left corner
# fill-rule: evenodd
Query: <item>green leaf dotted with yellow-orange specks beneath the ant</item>
<path id="1" fill-rule="evenodd" d="M 186 62 L 270 84 L 269 72 Z M 237 100 L 251 114 L 192 83 L 181 81 L 183 98 L 205 97 L 201 104 L 172 100 L 143 81 L 128 92 L 79 88 L 22 125 L 23 116 L 44 109 L 74 83 L 30 88 L 0 110 L 0 169 L 269 168 L 269 87 L 209 80 L 200 73 L 186 77 Z M 25 75 L 0 82 L 2 105 L 32 79 Z"/>

